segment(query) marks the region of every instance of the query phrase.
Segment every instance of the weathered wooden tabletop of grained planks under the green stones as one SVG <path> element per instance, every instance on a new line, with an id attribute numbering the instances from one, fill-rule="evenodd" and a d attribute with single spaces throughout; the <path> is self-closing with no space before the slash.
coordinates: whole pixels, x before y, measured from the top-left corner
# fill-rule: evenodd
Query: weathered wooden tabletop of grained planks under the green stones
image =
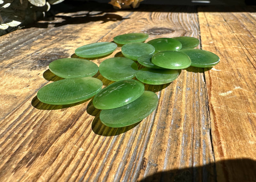
<path id="1" fill-rule="evenodd" d="M 145 84 L 159 103 L 131 127 L 101 124 L 92 100 L 53 106 L 37 99 L 60 79 L 50 62 L 132 32 L 148 40 L 196 37 L 220 63 L 183 69 L 171 84 Z M 150 5 L 84 7 L 0 37 L 1 181 L 256 181 L 255 38 L 256 7 Z"/>

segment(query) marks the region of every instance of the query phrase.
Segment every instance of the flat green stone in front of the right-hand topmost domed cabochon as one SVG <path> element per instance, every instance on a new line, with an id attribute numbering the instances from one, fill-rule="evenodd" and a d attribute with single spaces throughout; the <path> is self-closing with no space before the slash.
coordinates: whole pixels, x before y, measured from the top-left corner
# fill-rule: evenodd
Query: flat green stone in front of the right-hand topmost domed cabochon
<path id="1" fill-rule="evenodd" d="M 136 78 L 151 85 L 167 84 L 178 78 L 179 71 L 177 69 L 154 69 L 142 68 L 136 73 Z"/>

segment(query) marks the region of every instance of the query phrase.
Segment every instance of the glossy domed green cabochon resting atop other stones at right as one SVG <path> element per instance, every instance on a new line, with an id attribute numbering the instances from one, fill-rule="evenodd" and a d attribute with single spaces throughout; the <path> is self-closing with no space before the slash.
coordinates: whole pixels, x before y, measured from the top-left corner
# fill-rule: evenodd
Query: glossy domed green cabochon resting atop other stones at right
<path id="1" fill-rule="evenodd" d="M 184 49 L 186 50 L 186 49 Z M 168 69 L 184 69 L 191 64 L 189 57 L 178 51 L 162 51 L 152 57 L 152 62 Z"/>

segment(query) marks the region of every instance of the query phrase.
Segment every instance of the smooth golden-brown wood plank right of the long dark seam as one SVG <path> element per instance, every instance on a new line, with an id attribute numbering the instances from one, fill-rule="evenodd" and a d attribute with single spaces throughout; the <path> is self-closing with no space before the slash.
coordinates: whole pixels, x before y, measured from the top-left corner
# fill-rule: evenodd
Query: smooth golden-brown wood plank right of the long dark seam
<path id="1" fill-rule="evenodd" d="M 254 181 L 255 13 L 209 11 L 200 8 L 198 17 L 202 48 L 220 56 L 220 63 L 205 72 L 217 179 Z M 244 162 L 230 165 L 227 159 Z"/>

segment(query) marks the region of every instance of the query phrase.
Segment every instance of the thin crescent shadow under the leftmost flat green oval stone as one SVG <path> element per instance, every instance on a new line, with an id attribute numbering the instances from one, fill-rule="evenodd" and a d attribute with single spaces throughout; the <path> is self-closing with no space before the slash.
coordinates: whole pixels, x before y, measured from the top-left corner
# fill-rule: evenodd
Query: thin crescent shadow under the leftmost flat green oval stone
<path id="1" fill-rule="evenodd" d="M 52 104 L 45 104 L 45 103 L 41 102 L 40 100 L 38 100 L 37 96 L 35 96 L 31 101 L 31 105 L 33 107 L 35 107 L 36 109 L 40 109 L 40 110 L 57 110 L 57 109 L 64 109 L 64 108 L 68 108 L 68 107 L 77 106 L 77 105 L 80 105 L 80 104 L 83 104 L 83 103 L 89 101 L 90 99 L 91 98 L 88 98 L 86 100 L 83 100 L 81 102 L 77 102 L 74 104 L 52 105 Z"/>

